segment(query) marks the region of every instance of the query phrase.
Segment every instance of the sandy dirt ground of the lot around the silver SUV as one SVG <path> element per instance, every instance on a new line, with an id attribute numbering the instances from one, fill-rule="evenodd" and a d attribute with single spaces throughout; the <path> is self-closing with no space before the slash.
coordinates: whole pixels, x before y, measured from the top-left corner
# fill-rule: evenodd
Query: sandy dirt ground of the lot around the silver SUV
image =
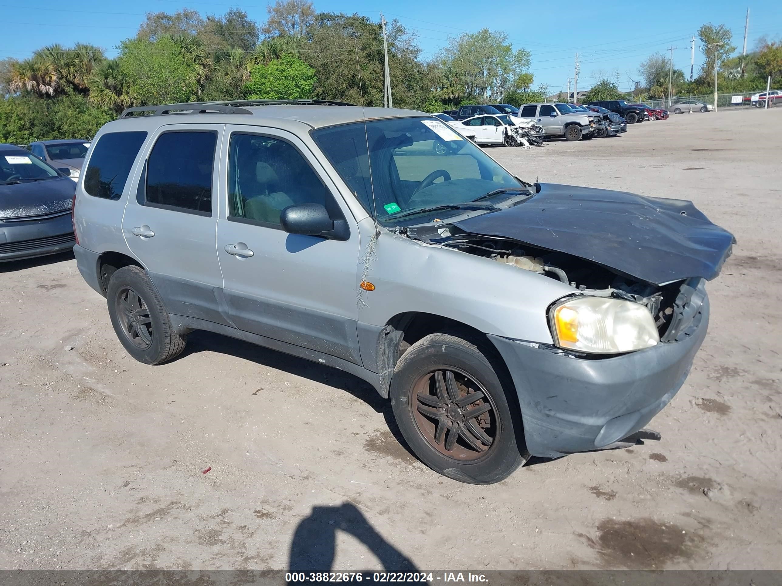
<path id="1" fill-rule="evenodd" d="M 72 256 L 0 266 L 0 568 L 782 569 L 780 130 L 782 109 L 680 115 L 489 150 L 691 199 L 738 241 L 662 441 L 493 486 L 419 463 L 357 378 L 200 333 L 144 366 Z"/>

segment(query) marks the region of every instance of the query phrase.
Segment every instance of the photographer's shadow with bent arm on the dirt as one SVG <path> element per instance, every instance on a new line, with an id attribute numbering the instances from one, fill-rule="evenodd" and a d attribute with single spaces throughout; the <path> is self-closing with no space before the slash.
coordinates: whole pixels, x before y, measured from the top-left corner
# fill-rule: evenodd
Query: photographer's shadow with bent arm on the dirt
<path id="1" fill-rule="evenodd" d="M 341 506 L 314 506 L 301 520 L 291 541 L 290 572 L 330 572 L 336 555 L 337 530 L 345 531 L 366 545 L 386 572 L 417 572 L 407 558 L 372 527 L 351 502 Z"/>

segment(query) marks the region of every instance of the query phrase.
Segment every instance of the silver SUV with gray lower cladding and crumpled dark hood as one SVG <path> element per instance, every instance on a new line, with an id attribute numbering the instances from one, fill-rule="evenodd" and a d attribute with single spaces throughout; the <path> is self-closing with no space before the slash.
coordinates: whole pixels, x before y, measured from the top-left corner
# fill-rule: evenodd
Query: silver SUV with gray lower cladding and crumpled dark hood
<path id="1" fill-rule="evenodd" d="M 345 370 L 475 484 L 633 441 L 733 242 L 690 202 L 529 184 L 432 116 L 339 102 L 129 109 L 92 142 L 74 226 L 135 359 L 206 330 Z"/>

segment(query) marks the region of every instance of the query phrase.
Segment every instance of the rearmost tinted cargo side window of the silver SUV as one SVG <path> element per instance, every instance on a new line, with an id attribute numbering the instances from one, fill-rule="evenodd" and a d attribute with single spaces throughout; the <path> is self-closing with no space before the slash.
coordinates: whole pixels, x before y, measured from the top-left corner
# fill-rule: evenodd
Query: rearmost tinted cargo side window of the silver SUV
<path id="1" fill-rule="evenodd" d="M 146 132 L 110 132 L 92 150 L 84 191 L 96 198 L 119 199 Z"/>

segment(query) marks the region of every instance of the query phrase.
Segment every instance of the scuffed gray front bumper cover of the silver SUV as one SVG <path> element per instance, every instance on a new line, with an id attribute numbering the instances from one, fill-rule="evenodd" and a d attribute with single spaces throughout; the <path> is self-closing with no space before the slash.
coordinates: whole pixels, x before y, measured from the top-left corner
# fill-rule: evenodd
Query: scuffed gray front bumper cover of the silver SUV
<path id="1" fill-rule="evenodd" d="M 700 324 L 683 341 L 608 359 L 571 358 L 490 335 L 515 384 L 529 453 L 588 452 L 644 427 L 690 372 L 708 328 L 708 297 L 700 312 Z"/>

